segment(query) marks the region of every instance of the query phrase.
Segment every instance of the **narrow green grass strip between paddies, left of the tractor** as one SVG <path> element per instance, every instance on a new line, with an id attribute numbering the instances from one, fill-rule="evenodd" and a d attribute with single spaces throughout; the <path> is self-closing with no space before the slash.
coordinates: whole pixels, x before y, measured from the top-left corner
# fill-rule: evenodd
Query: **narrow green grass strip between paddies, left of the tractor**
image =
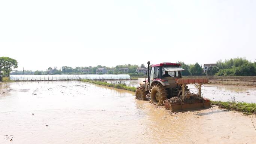
<path id="1" fill-rule="evenodd" d="M 88 82 L 88 83 L 94 83 L 96 85 L 103 85 L 103 86 L 108 86 L 108 87 L 112 87 L 112 88 L 117 88 L 117 89 L 125 89 L 127 91 L 132 91 L 132 92 L 136 91 L 136 88 L 131 87 L 131 86 L 126 86 L 125 84 L 113 84 L 113 83 L 99 82 L 99 81 L 87 80 L 87 79 L 83 79 L 82 81 Z"/>

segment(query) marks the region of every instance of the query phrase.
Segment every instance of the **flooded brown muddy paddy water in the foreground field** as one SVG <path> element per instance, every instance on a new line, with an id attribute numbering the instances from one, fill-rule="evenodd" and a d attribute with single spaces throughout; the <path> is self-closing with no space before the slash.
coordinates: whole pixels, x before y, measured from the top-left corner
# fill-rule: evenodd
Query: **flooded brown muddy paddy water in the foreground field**
<path id="1" fill-rule="evenodd" d="M 256 143 L 249 116 L 216 107 L 170 113 L 133 92 L 78 81 L 0 89 L 12 89 L 0 95 L 0 144 Z"/>

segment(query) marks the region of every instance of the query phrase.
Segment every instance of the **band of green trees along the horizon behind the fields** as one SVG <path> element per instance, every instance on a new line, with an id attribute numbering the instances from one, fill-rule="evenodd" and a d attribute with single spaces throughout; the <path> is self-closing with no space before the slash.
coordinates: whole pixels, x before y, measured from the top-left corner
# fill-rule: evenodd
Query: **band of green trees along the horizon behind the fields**
<path id="1" fill-rule="evenodd" d="M 225 61 L 219 60 L 216 62 L 216 66 L 209 67 L 206 73 L 203 72 L 202 65 L 196 62 L 195 64 L 185 64 L 184 62 L 177 62 L 181 64 L 181 67 L 186 71 L 182 71 L 183 76 L 256 76 L 256 62 L 250 62 L 246 58 L 231 58 Z M 13 74 L 96 74 L 97 68 L 111 69 L 107 74 L 124 74 L 119 71 L 119 68 L 128 68 L 128 74 L 130 76 L 143 76 L 143 73 L 138 73 L 136 69 L 138 67 L 145 68 L 144 64 L 139 65 L 116 65 L 116 67 L 106 67 L 97 65 L 96 67 L 68 67 L 63 66 L 61 69 L 49 67 L 46 71 L 16 71 Z M 9 77 L 13 68 L 18 68 L 18 62 L 15 59 L 9 57 L 0 57 L 0 74 Z M 82 69 L 89 69 L 88 72 L 82 72 Z M 99 73 L 102 74 L 102 73 Z M 0 77 L 1 81 L 1 77 Z"/>

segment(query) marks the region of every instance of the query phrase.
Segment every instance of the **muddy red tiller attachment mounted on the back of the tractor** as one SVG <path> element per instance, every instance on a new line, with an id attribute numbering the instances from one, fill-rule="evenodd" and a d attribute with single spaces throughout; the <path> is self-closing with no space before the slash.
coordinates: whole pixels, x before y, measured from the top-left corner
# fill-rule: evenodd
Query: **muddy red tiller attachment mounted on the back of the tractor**
<path id="1" fill-rule="evenodd" d="M 184 110 L 195 110 L 201 108 L 210 108 L 210 100 L 202 98 L 201 86 L 204 83 L 208 83 L 208 79 L 176 79 L 177 84 L 182 87 L 182 95 L 174 96 L 164 101 L 166 109 L 173 112 L 179 112 Z M 193 94 L 186 91 L 186 85 L 195 84 L 198 87 L 198 94 Z"/>

